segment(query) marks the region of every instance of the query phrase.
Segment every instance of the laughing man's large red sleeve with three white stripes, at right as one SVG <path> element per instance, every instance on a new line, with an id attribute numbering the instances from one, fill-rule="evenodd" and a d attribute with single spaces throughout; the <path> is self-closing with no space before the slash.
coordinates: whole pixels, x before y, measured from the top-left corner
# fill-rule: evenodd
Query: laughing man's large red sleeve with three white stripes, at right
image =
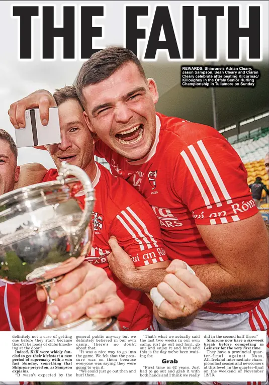
<path id="1" fill-rule="evenodd" d="M 247 171 L 225 138 L 207 137 L 185 146 L 177 157 L 173 188 L 197 225 L 236 222 L 258 212 Z"/>

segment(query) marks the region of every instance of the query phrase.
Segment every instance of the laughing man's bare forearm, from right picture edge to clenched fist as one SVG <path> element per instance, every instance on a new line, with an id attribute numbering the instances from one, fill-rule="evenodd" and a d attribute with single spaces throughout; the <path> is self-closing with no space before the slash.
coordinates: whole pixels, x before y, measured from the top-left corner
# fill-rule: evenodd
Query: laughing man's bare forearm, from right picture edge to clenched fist
<path id="1" fill-rule="evenodd" d="M 266 298 L 269 288 L 261 291 L 259 281 L 249 282 L 243 274 L 233 276 L 218 263 L 192 266 L 196 275 L 209 288 L 211 300 L 216 302 L 244 301 Z"/>

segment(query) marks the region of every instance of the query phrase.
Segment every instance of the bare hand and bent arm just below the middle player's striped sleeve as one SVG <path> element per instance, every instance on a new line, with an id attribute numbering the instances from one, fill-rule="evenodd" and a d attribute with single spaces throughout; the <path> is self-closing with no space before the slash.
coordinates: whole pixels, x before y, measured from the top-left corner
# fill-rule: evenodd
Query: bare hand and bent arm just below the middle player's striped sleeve
<path id="1" fill-rule="evenodd" d="M 108 255 L 109 266 L 125 286 L 149 293 L 150 289 L 157 286 L 166 274 L 165 268 L 169 261 L 135 267 L 130 256 L 118 244 L 116 237 L 112 236 L 109 239 L 109 245 L 112 250 Z"/>

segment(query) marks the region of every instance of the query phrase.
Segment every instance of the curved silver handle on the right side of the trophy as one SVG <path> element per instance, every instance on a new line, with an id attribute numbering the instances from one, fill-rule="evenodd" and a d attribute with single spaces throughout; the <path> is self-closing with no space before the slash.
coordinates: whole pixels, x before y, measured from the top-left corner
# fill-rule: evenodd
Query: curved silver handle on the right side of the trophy
<path id="1" fill-rule="evenodd" d="M 82 217 L 77 226 L 71 226 L 70 228 L 71 230 L 70 235 L 74 241 L 73 245 L 76 246 L 80 241 L 81 235 L 83 234 L 84 230 L 87 228 L 89 221 L 91 219 L 92 211 L 94 208 L 94 202 L 95 202 L 95 195 L 94 195 L 95 190 L 93 188 L 91 179 L 89 179 L 85 171 L 83 171 L 80 167 L 75 166 L 73 164 L 62 162 L 57 180 L 61 184 L 65 184 L 66 178 L 68 175 L 73 175 L 80 180 L 83 186 L 83 192 L 85 194 L 85 199 L 84 199 L 85 204 L 84 204 Z"/>

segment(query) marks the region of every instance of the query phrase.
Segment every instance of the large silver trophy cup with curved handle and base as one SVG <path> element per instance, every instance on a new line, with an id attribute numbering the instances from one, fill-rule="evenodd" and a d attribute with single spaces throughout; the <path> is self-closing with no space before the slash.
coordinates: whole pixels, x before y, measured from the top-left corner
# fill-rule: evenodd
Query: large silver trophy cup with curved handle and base
<path id="1" fill-rule="evenodd" d="M 85 195 L 80 208 L 72 185 L 77 179 Z M 55 181 L 8 192 L 0 198 L 0 278 L 6 282 L 36 283 L 46 288 L 83 262 L 93 241 L 89 226 L 95 196 L 91 180 L 79 167 L 62 162 Z M 47 296 L 47 304 L 53 301 Z M 116 319 L 84 316 L 61 325 L 46 315 L 36 330 L 119 330 Z"/>

